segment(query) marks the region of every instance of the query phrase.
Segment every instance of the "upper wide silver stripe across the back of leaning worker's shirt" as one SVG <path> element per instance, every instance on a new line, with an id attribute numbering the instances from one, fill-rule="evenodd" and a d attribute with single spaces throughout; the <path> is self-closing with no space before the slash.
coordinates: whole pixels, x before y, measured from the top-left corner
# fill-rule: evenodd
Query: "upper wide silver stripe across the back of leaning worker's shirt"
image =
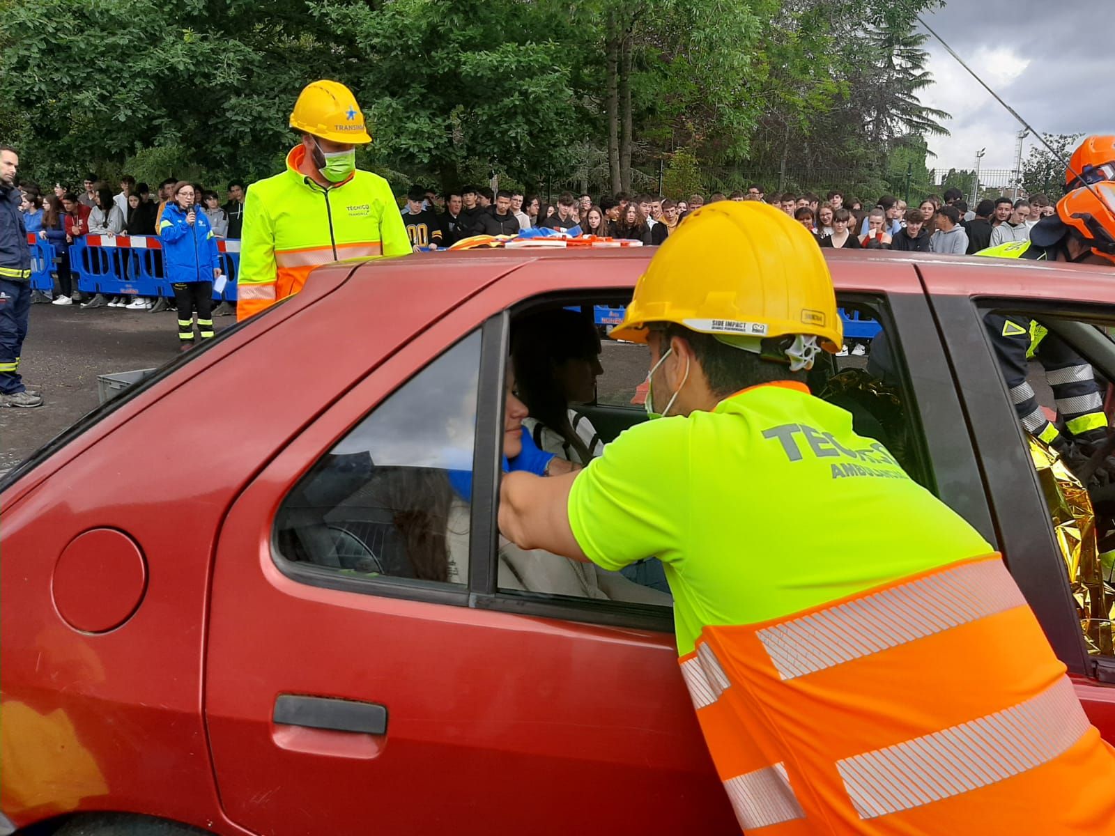
<path id="1" fill-rule="evenodd" d="M 756 635 L 782 678 L 794 679 L 1025 603 L 1002 561 L 980 561 L 766 628 Z"/>

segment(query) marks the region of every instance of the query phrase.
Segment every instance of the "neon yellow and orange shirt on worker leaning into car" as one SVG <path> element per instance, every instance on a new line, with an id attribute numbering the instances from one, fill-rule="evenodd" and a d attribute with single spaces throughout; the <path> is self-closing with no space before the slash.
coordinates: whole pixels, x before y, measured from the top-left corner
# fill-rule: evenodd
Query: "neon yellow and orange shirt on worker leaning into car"
<path id="1" fill-rule="evenodd" d="M 1115 752 L 1002 561 L 803 389 L 633 427 L 568 504 L 593 562 L 662 561 L 740 827 L 1115 835 Z"/>

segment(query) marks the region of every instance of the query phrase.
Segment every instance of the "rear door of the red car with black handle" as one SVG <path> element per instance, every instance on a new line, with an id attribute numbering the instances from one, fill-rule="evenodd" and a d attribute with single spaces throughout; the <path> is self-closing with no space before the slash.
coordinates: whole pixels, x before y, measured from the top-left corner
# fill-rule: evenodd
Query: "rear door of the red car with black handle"
<path id="1" fill-rule="evenodd" d="M 205 662 L 224 808 L 261 834 L 737 832 L 668 615 L 491 605 L 507 344 L 491 305 L 464 304 L 386 359 L 229 509 Z M 392 576 L 381 517 L 310 521 L 340 479 L 392 463 L 440 467 L 459 506 L 474 459 L 457 583 Z M 288 517 L 308 535 L 298 548 L 326 543 L 318 563 L 292 560 Z"/>

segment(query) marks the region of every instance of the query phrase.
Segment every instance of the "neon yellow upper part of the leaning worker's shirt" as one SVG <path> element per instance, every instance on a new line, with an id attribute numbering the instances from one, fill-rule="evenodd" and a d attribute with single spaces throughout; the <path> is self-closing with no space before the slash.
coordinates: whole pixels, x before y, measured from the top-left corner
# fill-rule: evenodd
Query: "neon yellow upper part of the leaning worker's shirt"
<path id="1" fill-rule="evenodd" d="M 799 383 L 626 430 L 578 475 L 569 521 L 604 568 L 662 561 L 680 655 L 706 625 L 789 615 L 995 551 Z"/>

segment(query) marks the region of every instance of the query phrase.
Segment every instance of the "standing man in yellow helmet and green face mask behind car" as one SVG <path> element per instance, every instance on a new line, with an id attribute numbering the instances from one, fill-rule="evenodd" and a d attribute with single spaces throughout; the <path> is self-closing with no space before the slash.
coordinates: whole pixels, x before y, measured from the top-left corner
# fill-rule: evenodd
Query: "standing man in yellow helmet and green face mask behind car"
<path id="1" fill-rule="evenodd" d="M 298 293 L 321 264 L 411 252 L 387 181 L 356 167 L 356 146 L 371 137 L 352 93 L 338 81 L 307 85 L 290 126 L 302 142 L 287 171 L 254 183 L 244 202 L 237 320 Z"/>

